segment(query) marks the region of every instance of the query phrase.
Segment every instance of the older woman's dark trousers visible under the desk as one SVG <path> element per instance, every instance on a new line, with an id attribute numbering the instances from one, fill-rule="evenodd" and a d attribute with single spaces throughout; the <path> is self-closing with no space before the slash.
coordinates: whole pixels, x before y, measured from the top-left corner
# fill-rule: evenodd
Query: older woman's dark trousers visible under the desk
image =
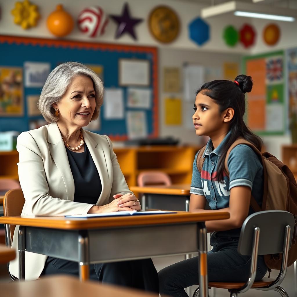
<path id="1" fill-rule="evenodd" d="M 48 257 L 42 275 L 78 275 L 78 263 Z M 159 293 L 157 270 L 151 259 L 90 265 L 90 279 Z"/>

